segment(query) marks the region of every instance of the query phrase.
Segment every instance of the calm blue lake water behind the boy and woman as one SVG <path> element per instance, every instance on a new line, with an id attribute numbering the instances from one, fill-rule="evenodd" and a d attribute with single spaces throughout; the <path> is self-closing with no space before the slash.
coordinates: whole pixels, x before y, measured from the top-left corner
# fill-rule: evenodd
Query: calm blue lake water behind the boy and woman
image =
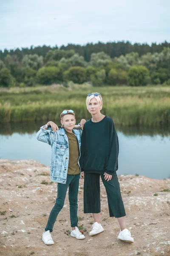
<path id="1" fill-rule="evenodd" d="M 56 123 L 59 125 L 59 121 Z M 37 131 L 44 124 L 1 124 L 0 158 L 34 159 L 49 166 L 51 147 L 36 139 Z M 170 128 L 116 127 L 116 130 L 119 137 L 118 175 L 170 177 Z"/>

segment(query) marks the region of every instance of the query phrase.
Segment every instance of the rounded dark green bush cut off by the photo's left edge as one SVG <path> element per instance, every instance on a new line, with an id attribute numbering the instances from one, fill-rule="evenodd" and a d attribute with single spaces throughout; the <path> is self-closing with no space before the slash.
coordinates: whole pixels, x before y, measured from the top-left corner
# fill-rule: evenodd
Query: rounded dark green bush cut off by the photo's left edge
<path id="1" fill-rule="evenodd" d="M 15 86 L 15 79 L 13 76 L 11 76 L 10 71 L 6 67 L 0 70 L 0 86 L 2 87 Z"/>

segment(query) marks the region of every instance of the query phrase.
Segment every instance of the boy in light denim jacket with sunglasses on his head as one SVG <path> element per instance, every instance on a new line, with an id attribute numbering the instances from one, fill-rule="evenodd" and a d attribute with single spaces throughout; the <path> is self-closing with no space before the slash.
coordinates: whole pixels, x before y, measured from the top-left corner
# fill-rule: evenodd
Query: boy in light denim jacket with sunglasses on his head
<path id="1" fill-rule="evenodd" d="M 76 124 L 73 110 L 64 110 L 61 115 L 61 124 L 64 128 L 59 130 L 54 122 L 48 122 L 37 132 L 37 140 L 51 145 L 51 180 L 57 182 L 57 199 L 48 218 L 42 241 L 45 244 L 54 244 L 51 237 L 57 215 L 64 206 L 65 196 L 69 187 L 68 198 L 70 204 L 71 236 L 76 239 L 85 239 L 80 233 L 77 224 L 77 196 L 80 177 L 80 145 L 82 130 L 73 130 Z M 80 124 L 83 125 L 85 119 Z M 51 128 L 48 128 L 51 125 Z"/>

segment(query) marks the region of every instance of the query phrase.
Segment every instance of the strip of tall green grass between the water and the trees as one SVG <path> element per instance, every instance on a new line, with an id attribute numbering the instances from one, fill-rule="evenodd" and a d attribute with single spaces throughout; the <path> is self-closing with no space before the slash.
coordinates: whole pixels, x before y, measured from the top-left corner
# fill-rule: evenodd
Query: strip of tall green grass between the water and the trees
<path id="1" fill-rule="evenodd" d="M 77 118 L 90 118 L 87 93 L 99 92 L 102 113 L 119 125 L 170 124 L 170 87 L 91 87 L 88 84 L 41 86 L 0 91 L 0 122 L 55 120 L 63 109 L 73 109 Z"/>

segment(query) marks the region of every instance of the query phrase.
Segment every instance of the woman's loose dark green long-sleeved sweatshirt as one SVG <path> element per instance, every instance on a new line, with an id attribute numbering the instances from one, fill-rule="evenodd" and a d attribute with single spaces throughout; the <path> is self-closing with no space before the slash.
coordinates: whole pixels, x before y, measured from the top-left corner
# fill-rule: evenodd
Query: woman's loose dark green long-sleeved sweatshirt
<path id="1" fill-rule="evenodd" d="M 88 120 L 81 137 L 82 172 L 108 174 L 118 169 L 119 141 L 113 120 L 105 116 L 100 122 Z"/>

